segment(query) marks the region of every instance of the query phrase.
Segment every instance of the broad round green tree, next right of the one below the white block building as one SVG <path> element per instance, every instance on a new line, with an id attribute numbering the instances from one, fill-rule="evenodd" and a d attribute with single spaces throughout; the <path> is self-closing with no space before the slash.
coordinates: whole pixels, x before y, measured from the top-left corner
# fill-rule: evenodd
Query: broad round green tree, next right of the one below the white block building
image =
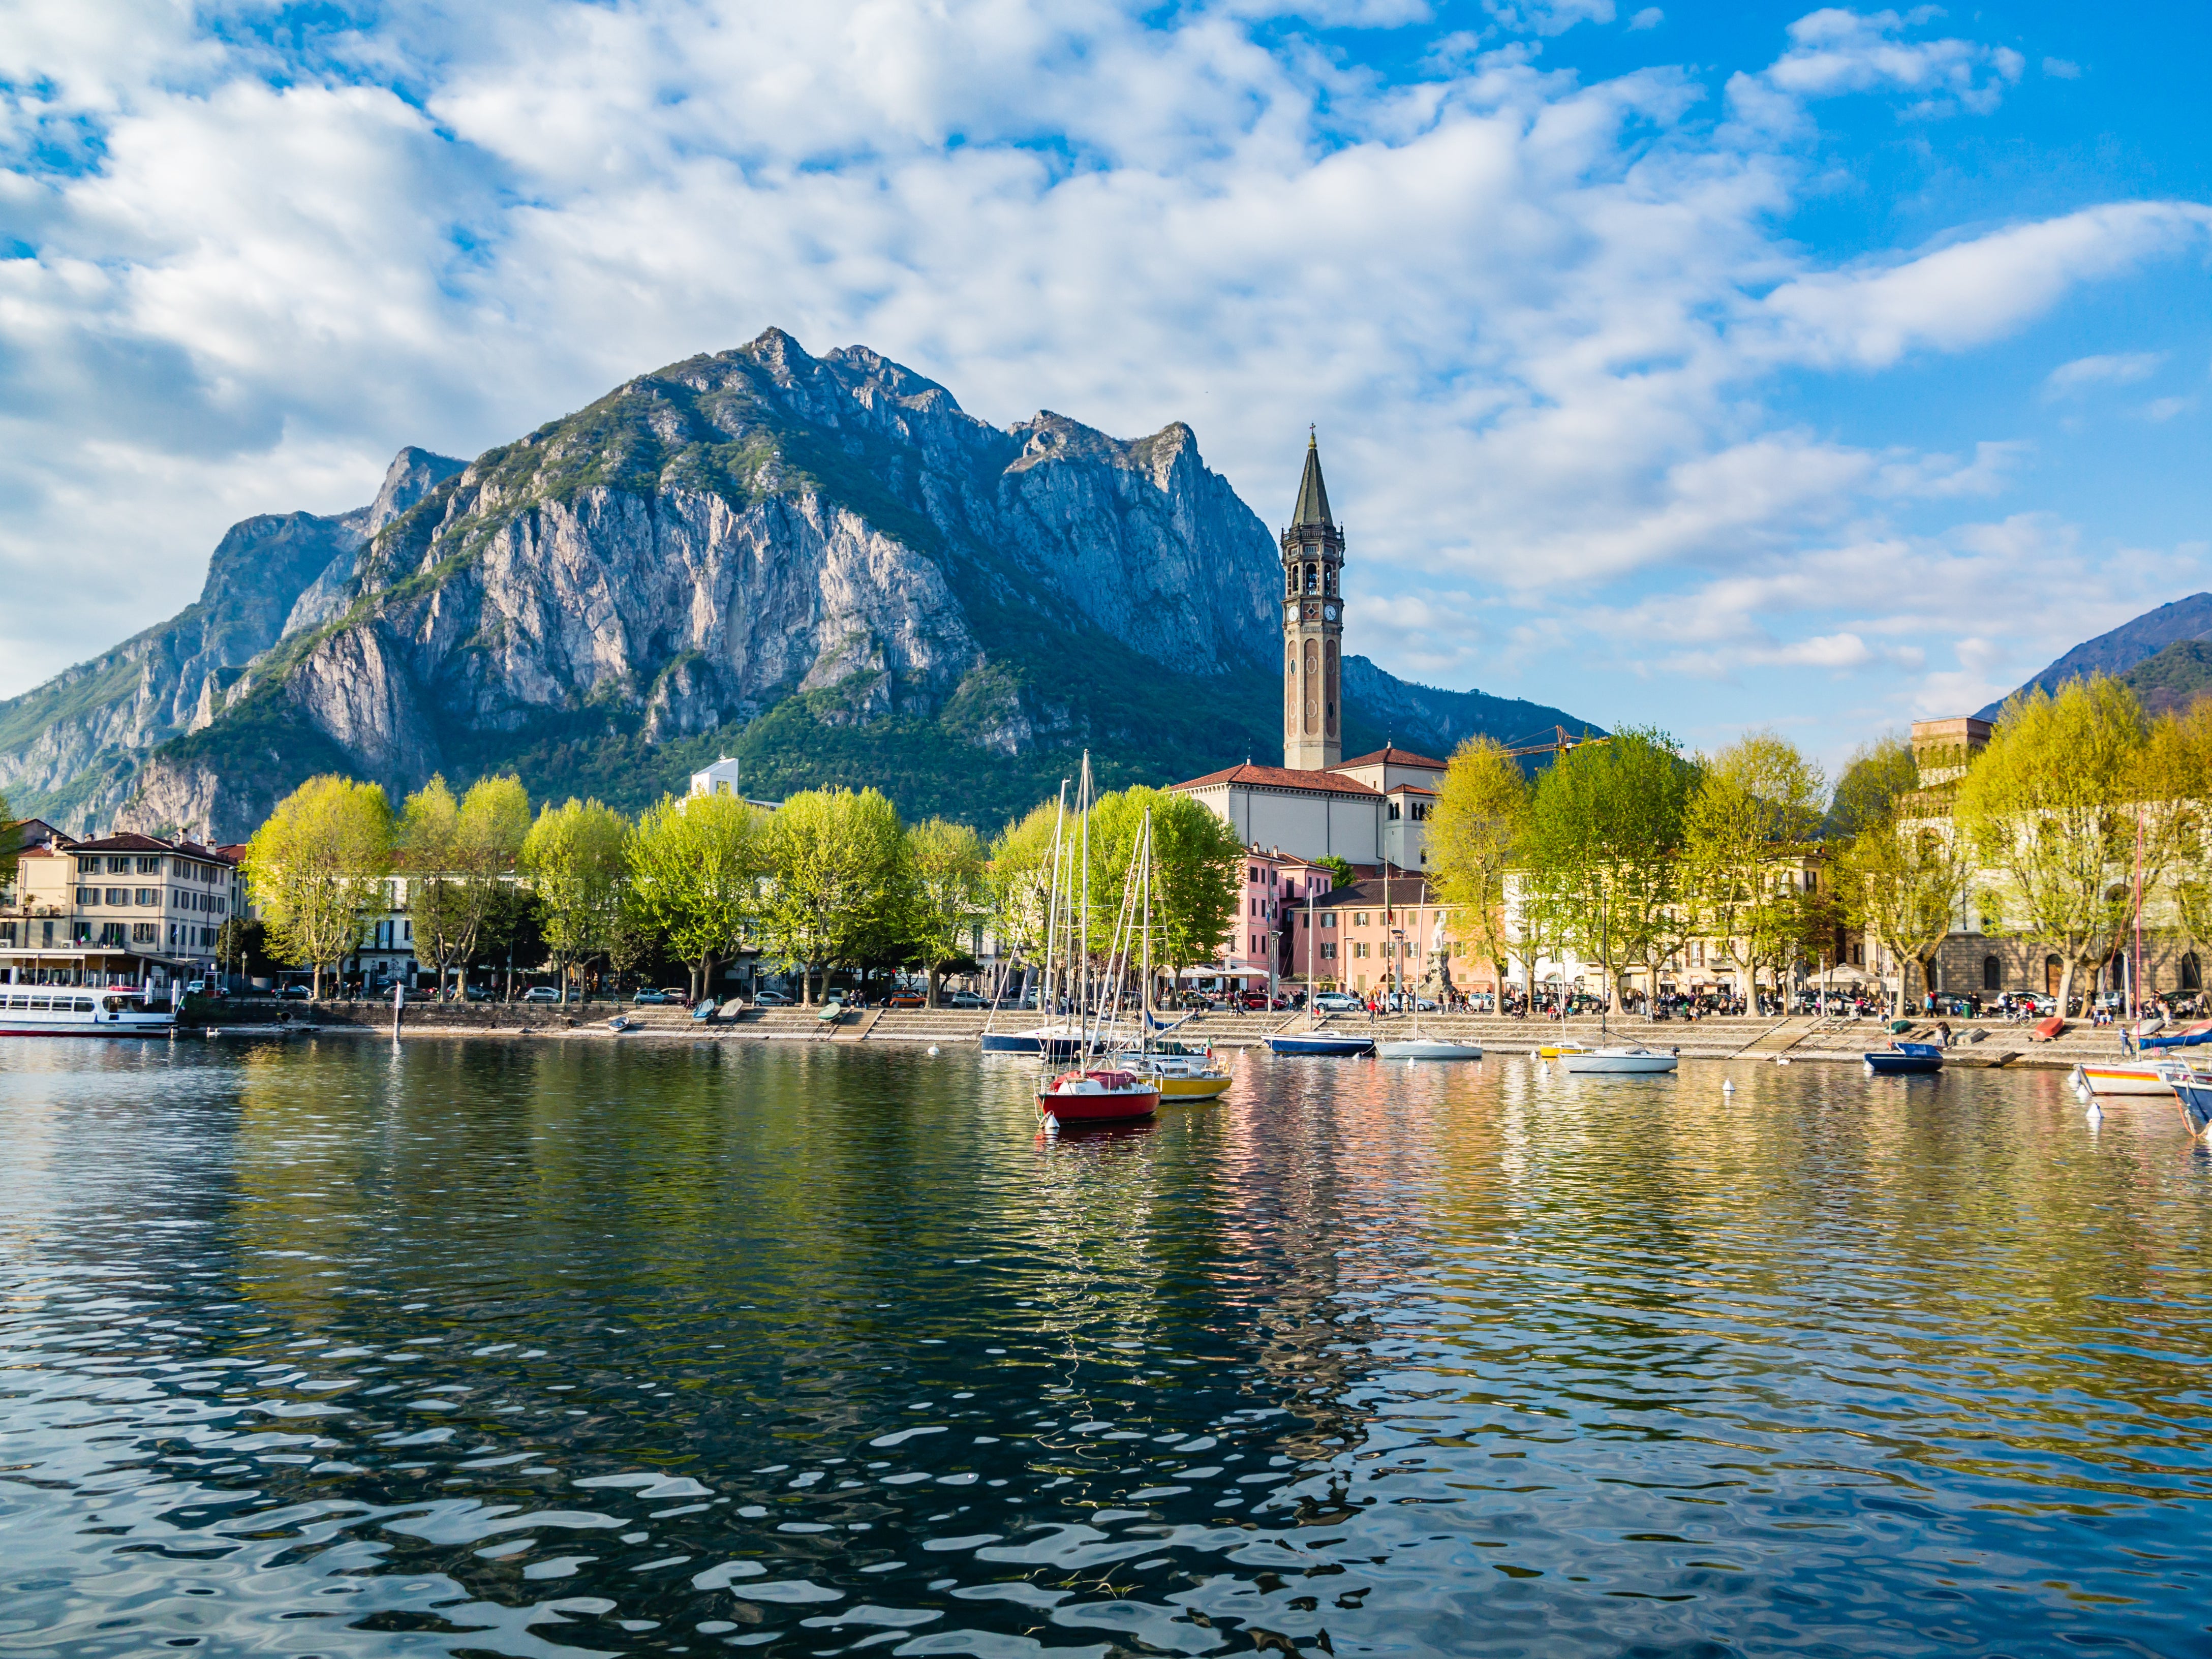
<path id="1" fill-rule="evenodd" d="M 765 942 L 799 969 L 799 1000 L 814 1002 L 812 967 L 869 956 L 905 914 L 907 867 L 898 810 L 876 790 L 803 790 L 768 830 L 774 869 Z"/>

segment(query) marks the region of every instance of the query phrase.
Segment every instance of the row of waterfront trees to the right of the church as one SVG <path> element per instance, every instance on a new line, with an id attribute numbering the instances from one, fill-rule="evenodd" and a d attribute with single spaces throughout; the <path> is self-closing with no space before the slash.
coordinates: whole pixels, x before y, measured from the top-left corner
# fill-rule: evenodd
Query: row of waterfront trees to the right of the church
<path id="1" fill-rule="evenodd" d="M 2212 701 L 2150 721 L 2124 684 L 2070 681 L 2015 699 L 1986 752 L 1951 759 L 1955 776 L 1922 787 L 1907 743 L 1882 739 L 1829 790 L 1774 732 L 1686 757 L 1646 728 L 1531 785 L 1478 739 L 1444 776 L 1431 867 L 1500 980 L 1509 958 L 1573 953 L 1619 989 L 1705 940 L 1745 984 L 1783 984 L 1843 925 L 1900 964 L 1902 1004 L 1973 911 L 2059 958 L 2064 1006 L 2139 896 L 2154 925 L 2212 938 Z"/>

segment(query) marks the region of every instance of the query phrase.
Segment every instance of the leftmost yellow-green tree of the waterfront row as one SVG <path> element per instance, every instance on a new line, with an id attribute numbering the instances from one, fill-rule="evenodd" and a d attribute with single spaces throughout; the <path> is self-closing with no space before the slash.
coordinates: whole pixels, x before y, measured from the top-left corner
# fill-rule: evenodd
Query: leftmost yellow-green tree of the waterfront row
<path id="1" fill-rule="evenodd" d="M 246 883 L 276 953 L 323 969 L 361 945 L 361 916 L 383 902 L 392 803 L 376 783 L 319 776 L 276 803 L 246 845 Z"/>

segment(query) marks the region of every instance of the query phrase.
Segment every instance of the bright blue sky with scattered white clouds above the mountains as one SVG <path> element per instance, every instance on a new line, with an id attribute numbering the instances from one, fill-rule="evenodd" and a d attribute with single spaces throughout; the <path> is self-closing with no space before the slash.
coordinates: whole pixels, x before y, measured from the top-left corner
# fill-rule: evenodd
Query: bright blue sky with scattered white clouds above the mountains
<path id="1" fill-rule="evenodd" d="M 2201 0 L 0 0 L 0 697 L 774 323 L 1316 422 L 1349 646 L 1836 757 L 2212 586 Z"/>

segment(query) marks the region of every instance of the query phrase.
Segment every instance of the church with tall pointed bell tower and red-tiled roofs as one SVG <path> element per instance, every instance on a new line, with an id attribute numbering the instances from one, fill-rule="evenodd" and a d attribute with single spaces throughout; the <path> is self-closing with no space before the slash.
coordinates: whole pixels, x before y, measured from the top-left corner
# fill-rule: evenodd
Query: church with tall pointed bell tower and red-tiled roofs
<path id="1" fill-rule="evenodd" d="M 1420 872 L 1429 863 L 1429 807 L 1444 763 L 1380 748 L 1343 759 L 1345 533 L 1329 515 L 1321 445 L 1305 442 L 1305 476 L 1283 551 L 1283 765 L 1232 765 L 1177 783 L 1219 812 L 1254 852 L 1290 860 L 1343 858 L 1363 872 Z"/>

